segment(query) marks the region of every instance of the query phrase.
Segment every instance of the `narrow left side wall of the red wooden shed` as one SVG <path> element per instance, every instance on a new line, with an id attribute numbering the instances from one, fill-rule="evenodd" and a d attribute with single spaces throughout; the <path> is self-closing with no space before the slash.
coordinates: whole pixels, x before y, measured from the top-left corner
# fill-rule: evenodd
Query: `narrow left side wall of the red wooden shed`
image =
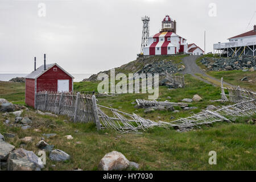
<path id="1" fill-rule="evenodd" d="M 26 78 L 25 102 L 28 106 L 35 105 L 35 80 L 32 78 Z"/>

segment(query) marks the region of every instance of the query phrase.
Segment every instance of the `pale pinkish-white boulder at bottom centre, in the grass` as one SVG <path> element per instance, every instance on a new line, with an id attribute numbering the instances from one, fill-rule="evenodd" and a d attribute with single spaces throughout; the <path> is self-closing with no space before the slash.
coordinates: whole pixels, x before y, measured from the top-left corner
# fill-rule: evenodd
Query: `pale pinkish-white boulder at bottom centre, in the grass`
<path id="1" fill-rule="evenodd" d="M 102 171 L 121 171 L 129 167 L 129 160 L 121 152 L 109 152 L 101 159 L 99 169 Z"/>

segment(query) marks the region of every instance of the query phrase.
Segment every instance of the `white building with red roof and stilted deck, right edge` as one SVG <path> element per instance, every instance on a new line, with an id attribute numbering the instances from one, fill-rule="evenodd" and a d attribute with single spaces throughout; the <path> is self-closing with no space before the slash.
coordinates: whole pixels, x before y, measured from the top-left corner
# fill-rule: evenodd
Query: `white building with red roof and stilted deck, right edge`
<path id="1" fill-rule="evenodd" d="M 213 44 L 214 53 L 226 53 L 227 56 L 251 55 L 255 56 L 256 51 L 256 25 L 253 30 L 233 36 L 227 43 Z"/>

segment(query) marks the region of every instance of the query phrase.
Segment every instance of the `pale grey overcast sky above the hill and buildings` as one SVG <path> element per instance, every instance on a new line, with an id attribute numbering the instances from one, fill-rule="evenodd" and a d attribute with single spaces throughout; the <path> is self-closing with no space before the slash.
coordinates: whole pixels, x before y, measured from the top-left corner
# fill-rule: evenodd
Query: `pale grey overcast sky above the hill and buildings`
<path id="1" fill-rule="evenodd" d="M 40 17 L 39 3 L 46 5 Z M 216 16 L 209 16 L 210 3 Z M 150 16 L 150 35 L 165 15 L 177 22 L 177 34 L 204 49 L 253 29 L 255 0 L 0 0 L 0 72 L 27 73 L 58 63 L 71 73 L 95 73 L 135 60 L 142 21 Z M 42 12 L 42 11 L 40 11 Z M 254 16 L 253 16 L 254 15 Z M 250 26 L 248 26 L 250 22 Z"/>

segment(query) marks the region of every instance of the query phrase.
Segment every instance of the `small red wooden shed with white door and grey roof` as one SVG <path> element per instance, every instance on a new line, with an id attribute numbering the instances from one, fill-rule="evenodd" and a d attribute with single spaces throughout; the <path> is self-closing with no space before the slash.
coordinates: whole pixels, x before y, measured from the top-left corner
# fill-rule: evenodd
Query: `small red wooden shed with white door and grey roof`
<path id="1" fill-rule="evenodd" d="M 71 92 L 73 76 L 57 63 L 43 64 L 26 76 L 25 102 L 35 106 L 35 94 L 40 91 Z"/>

